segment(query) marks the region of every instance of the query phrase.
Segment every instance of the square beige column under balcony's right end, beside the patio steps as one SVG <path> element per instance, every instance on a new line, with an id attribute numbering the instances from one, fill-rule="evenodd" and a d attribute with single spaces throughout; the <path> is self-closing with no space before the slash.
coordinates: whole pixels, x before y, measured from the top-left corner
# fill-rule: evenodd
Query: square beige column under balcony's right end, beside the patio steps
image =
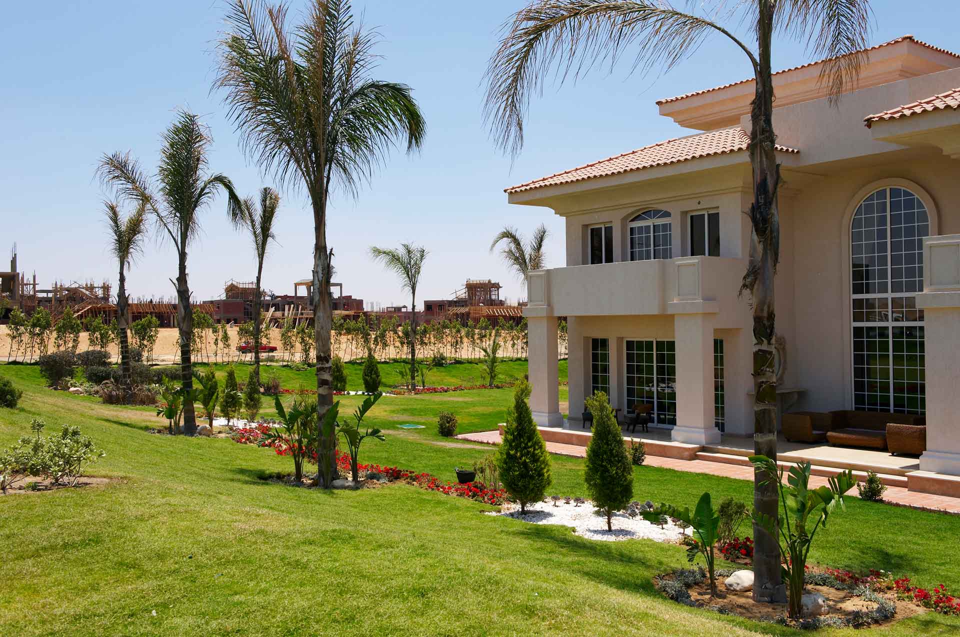
<path id="1" fill-rule="evenodd" d="M 716 444 L 713 426 L 713 314 L 677 314 L 677 426 L 671 438 L 690 444 Z"/>

